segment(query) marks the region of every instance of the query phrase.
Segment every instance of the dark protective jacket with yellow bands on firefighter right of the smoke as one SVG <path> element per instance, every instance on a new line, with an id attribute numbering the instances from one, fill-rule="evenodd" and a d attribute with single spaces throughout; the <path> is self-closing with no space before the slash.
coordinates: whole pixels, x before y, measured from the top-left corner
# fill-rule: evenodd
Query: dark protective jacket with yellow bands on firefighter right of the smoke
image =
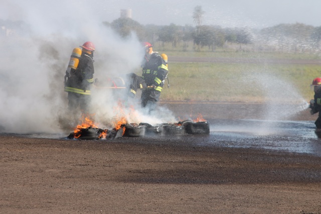
<path id="1" fill-rule="evenodd" d="M 142 63 L 142 78 L 145 80 L 146 85 L 155 85 L 154 90 L 159 92 L 163 89 L 164 80 L 168 72 L 166 62 L 157 52 L 153 52 L 150 58 L 145 58 Z"/>

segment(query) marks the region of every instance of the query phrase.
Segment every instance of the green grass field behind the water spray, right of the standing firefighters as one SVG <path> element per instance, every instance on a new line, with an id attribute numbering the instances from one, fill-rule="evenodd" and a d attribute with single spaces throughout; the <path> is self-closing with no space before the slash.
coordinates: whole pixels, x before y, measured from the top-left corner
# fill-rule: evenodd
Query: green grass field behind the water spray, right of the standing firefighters
<path id="1" fill-rule="evenodd" d="M 180 56 L 180 53 L 183 53 L 183 56 L 195 56 L 195 52 L 190 55 L 186 55 L 187 52 L 176 52 L 175 55 Z M 204 57 L 213 57 L 214 53 L 202 54 Z M 218 57 L 230 58 L 241 55 L 249 60 L 253 57 L 253 53 L 215 54 Z M 261 53 L 259 57 L 310 59 L 308 54 L 288 53 Z M 321 64 L 170 63 L 170 88 L 167 88 L 166 82 L 161 99 L 300 102 L 302 99 L 310 100 L 313 97 L 310 84 L 319 76 Z"/>

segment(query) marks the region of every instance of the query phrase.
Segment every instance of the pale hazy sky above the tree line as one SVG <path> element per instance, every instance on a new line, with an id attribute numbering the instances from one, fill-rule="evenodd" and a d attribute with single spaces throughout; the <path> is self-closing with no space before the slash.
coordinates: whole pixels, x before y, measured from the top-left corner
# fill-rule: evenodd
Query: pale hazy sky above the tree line
<path id="1" fill-rule="evenodd" d="M 132 19 L 142 25 L 193 25 L 193 11 L 201 6 L 203 24 L 222 27 L 264 28 L 278 24 L 303 23 L 321 26 L 319 0 L 1 0 L 0 19 L 21 20 L 38 14 L 65 20 L 88 16 L 112 22 L 121 9 L 131 9 Z M 35 20 L 34 20 L 35 21 Z M 41 20 L 38 20 L 41 22 Z M 65 23 L 65 24 L 66 24 Z M 63 25 L 63 23 L 61 23 Z"/>

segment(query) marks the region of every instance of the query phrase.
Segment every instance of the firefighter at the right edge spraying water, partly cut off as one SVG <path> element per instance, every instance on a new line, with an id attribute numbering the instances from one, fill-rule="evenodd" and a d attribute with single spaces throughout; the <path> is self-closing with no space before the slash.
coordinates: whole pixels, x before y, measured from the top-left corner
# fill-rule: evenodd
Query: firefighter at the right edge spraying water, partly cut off
<path id="1" fill-rule="evenodd" d="M 313 79 L 311 88 L 314 90 L 314 99 L 310 100 L 310 114 L 314 115 L 319 113 L 318 118 L 315 121 L 316 129 L 321 129 L 321 78 L 317 77 Z"/>

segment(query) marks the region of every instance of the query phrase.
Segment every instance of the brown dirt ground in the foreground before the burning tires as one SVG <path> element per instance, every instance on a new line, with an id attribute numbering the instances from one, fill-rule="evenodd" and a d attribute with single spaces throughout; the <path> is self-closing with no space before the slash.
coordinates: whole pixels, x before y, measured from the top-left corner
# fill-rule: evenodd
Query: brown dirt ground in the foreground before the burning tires
<path id="1" fill-rule="evenodd" d="M 321 157 L 2 134 L 0 163 L 0 213 L 321 213 Z"/>

